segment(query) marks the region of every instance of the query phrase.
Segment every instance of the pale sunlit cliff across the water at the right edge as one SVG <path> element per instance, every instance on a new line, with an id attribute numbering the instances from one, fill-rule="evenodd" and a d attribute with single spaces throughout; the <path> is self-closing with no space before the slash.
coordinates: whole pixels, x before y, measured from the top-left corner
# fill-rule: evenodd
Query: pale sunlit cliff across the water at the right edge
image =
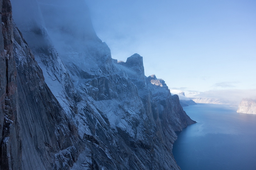
<path id="1" fill-rule="evenodd" d="M 243 98 L 236 112 L 256 114 L 256 100 Z"/>

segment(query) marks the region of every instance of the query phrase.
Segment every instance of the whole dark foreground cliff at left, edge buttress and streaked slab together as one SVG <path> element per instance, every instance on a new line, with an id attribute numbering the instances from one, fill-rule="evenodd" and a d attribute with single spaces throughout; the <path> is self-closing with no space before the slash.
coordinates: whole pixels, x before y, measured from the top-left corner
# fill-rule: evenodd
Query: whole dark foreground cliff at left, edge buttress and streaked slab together
<path id="1" fill-rule="evenodd" d="M 2 1 L 2 33 L 1 169 L 68 169 L 83 143 L 13 25 L 8 0 Z"/>

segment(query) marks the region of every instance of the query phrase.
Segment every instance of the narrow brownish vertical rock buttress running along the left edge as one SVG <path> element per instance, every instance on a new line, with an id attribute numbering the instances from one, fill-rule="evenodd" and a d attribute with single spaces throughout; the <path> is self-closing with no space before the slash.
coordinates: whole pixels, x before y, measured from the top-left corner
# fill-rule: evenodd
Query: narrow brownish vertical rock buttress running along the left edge
<path id="1" fill-rule="evenodd" d="M 17 69 L 13 56 L 12 7 L 9 0 L 1 0 L 0 5 L 0 164 L 1 169 L 18 169 L 21 164 L 21 140 L 17 121 Z"/>

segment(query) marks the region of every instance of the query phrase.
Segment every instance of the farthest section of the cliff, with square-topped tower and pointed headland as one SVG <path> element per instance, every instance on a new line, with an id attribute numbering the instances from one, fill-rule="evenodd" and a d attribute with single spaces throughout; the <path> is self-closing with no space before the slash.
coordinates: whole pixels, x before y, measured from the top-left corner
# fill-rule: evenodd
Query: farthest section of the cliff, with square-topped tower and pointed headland
<path id="1" fill-rule="evenodd" d="M 178 95 L 171 95 L 163 79 L 157 79 L 155 75 L 148 78 L 141 76 L 144 75 L 144 66 L 140 55 L 134 54 L 128 57 L 125 63 L 118 62 L 117 64 L 125 67 L 122 69 L 137 86 L 148 118 L 156 126 L 156 136 L 160 139 L 159 144 L 171 151 L 172 144 L 176 139 L 174 131 L 180 131 L 195 121 L 192 121 L 183 111 Z"/>

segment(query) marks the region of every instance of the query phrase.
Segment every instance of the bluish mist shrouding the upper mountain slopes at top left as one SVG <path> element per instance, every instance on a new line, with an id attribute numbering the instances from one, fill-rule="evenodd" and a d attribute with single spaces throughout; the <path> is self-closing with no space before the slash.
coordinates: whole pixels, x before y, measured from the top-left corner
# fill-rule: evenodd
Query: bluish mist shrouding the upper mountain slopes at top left
<path id="1" fill-rule="evenodd" d="M 31 48 L 53 47 L 66 65 L 83 70 L 111 63 L 110 49 L 96 35 L 84 0 L 12 0 L 12 5 L 14 22 Z"/>

